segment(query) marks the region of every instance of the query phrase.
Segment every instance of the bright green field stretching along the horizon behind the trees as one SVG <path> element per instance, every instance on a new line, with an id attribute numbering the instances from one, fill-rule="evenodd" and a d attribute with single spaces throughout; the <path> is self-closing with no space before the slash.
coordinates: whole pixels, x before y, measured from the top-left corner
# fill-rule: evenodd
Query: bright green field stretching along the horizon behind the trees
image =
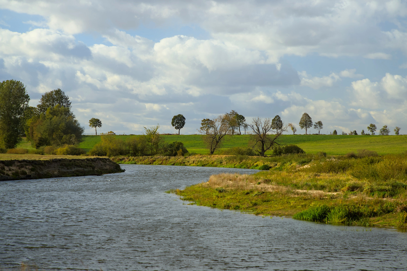
<path id="1" fill-rule="evenodd" d="M 116 137 L 126 139 L 131 136 Z M 201 140 L 201 135 L 163 135 L 163 137 L 166 142 L 183 142 L 190 152 L 209 153 Z M 232 147 L 247 147 L 249 137 L 249 135 L 225 136 L 225 141 L 219 151 Z M 88 151 L 92 149 L 94 144 L 101 141 L 101 136 L 83 136 L 82 139 L 83 141 L 79 146 Z M 402 153 L 407 150 L 407 136 L 283 135 L 278 142 L 296 144 L 306 153 L 322 151 L 329 155 L 343 155 L 360 149 L 376 151 L 379 154 Z M 271 151 L 266 152 L 266 154 L 271 154 Z"/>

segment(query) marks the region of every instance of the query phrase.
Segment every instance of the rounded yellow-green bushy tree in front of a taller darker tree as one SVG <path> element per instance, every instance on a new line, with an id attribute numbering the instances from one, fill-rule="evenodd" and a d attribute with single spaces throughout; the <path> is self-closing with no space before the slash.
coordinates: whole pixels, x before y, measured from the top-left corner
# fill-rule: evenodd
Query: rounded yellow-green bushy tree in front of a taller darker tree
<path id="1" fill-rule="evenodd" d="M 35 148 L 78 144 L 83 133 L 83 127 L 75 116 L 59 104 L 49 107 L 45 114 L 33 116 L 27 125 L 27 139 Z"/>

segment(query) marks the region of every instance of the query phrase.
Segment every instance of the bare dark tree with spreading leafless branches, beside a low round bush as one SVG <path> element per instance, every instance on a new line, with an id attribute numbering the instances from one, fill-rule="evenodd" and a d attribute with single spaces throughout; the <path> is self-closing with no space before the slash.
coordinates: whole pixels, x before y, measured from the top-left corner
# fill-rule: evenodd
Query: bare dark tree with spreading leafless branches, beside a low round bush
<path id="1" fill-rule="evenodd" d="M 274 130 L 269 118 L 265 118 L 264 120 L 259 117 L 253 118 L 249 127 L 252 128 L 254 133 L 250 136 L 249 144 L 260 156 L 264 156 L 264 153 L 269 149 L 274 149 L 275 146 L 279 146 L 280 144 L 276 142 L 277 138 L 281 136 L 283 131 L 287 131 L 287 126 L 284 126 L 284 123 L 280 130 Z M 274 134 L 270 135 L 269 132 Z"/>

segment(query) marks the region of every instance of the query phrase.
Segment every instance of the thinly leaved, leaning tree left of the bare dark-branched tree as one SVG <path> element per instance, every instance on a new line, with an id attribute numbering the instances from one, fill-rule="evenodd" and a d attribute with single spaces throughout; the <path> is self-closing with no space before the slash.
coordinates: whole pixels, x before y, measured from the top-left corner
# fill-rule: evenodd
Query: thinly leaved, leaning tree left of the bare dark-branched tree
<path id="1" fill-rule="evenodd" d="M 221 146 L 223 137 L 227 135 L 230 130 L 230 118 L 227 114 L 219 115 L 207 123 L 208 126 L 201 127 L 198 132 L 203 134 L 202 140 L 204 140 L 210 154 L 213 154 L 214 151 Z"/>

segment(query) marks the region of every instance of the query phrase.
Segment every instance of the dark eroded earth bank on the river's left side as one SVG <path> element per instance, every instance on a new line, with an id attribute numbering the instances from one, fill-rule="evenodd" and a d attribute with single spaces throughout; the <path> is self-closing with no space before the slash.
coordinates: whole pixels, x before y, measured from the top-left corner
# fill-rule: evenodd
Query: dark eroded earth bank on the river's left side
<path id="1" fill-rule="evenodd" d="M 0 160 L 0 181 L 101 175 L 123 172 L 108 158 Z"/>

